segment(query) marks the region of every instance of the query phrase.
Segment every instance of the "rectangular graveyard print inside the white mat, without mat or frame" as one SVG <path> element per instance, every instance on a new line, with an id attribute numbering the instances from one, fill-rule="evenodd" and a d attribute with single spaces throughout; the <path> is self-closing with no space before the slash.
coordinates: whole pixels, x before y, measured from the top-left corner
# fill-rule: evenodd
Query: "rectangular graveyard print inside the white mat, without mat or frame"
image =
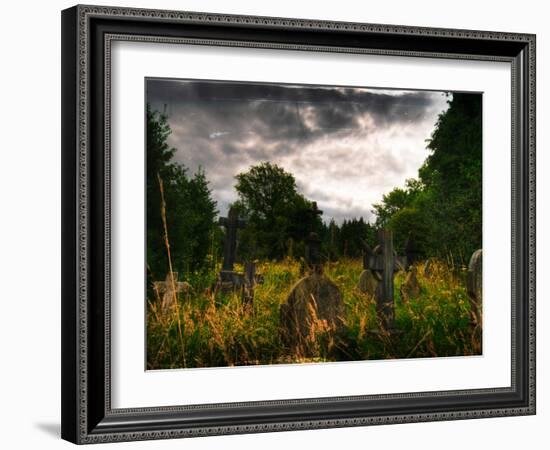
<path id="1" fill-rule="evenodd" d="M 147 370 L 483 354 L 481 93 L 145 94 Z"/>

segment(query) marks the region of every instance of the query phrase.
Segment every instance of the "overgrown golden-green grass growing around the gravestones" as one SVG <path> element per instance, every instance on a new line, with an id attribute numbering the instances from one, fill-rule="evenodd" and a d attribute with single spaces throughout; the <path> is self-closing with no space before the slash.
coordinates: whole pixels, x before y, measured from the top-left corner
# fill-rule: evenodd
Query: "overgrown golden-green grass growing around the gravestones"
<path id="1" fill-rule="evenodd" d="M 237 270 L 242 268 L 237 267 Z M 395 277 L 394 337 L 373 333 L 379 328 L 372 296 L 359 291 L 360 260 L 325 265 L 341 289 L 345 303 L 346 333 L 337 356 L 327 357 L 320 345 L 317 357 L 289 354 L 279 337 L 279 307 L 300 279 L 294 260 L 259 263 L 264 284 L 256 287 L 254 303 L 243 305 L 239 293 L 214 292 L 214 273 L 195 274 L 193 290 L 180 293 L 176 307 L 162 311 L 158 299 L 147 309 L 147 367 L 219 367 L 287 362 L 349 361 L 387 358 L 461 356 L 479 353 L 479 335 L 470 321 L 465 272 L 439 262 L 428 276 L 418 265 L 422 287 L 418 297 L 404 301 L 399 287 L 404 273 Z M 315 335 L 316 336 L 316 335 Z M 319 335 L 319 339 L 322 336 Z"/>

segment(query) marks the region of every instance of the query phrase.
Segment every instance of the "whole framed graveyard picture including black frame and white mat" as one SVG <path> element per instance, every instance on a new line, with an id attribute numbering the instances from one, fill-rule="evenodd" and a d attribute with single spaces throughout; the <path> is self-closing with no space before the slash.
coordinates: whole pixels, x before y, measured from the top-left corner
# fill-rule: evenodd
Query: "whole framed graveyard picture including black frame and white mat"
<path id="1" fill-rule="evenodd" d="M 62 12 L 62 437 L 535 413 L 535 36 Z"/>

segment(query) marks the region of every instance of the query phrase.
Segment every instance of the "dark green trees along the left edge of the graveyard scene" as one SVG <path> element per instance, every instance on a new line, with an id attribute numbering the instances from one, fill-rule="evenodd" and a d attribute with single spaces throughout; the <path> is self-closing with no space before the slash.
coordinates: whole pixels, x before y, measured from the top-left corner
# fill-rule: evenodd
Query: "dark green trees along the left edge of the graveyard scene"
<path id="1" fill-rule="evenodd" d="M 204 171 L 189 176 L 172 162 L 175 149 L 168 143 L 171 130 L 166 117 L 147 106 L 147 264 L 151 277 L 164 279 L 168 270 L 159 178 L 164 186 L 166 225 L 175 272 L 189 274 L 212 266 L 208 256 L 217 252 L 217 214 Z"/>

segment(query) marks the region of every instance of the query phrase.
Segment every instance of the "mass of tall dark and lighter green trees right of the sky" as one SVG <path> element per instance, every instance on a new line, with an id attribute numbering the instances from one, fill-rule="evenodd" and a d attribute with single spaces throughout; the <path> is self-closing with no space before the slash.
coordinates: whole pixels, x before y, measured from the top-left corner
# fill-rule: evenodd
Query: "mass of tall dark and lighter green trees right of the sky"
<path id="1" fill-rule="evenodd" d="M 418 179 L 384 195 L 373 212 L 398 248 L 412 236 L 421 254 L 464 263 L 482 245 L 481 95 L 454 93 L 448 103 Z"/>

